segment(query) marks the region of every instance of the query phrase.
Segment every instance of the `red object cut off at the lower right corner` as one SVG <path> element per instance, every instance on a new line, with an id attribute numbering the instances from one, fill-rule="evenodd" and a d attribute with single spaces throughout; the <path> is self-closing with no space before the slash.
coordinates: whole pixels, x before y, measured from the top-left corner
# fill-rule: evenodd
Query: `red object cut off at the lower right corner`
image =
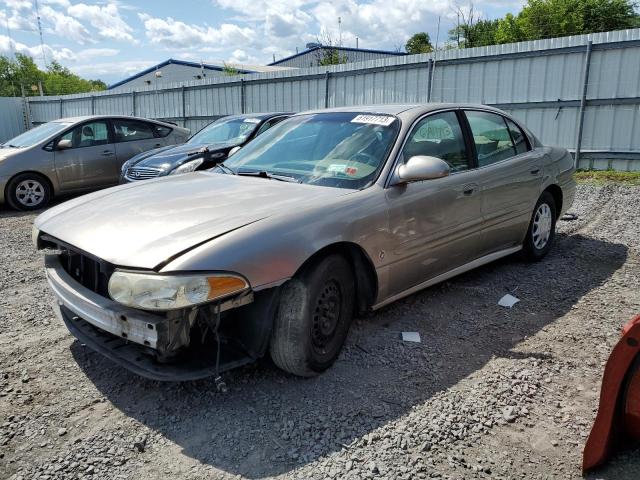
<path id="1" fill-rule="evenodd" d="M 598 415 L 582 455 L 583 473 L 602 465 L 616 449 L 640 441 L 639 353 L 640 315 L 624 326 L 605 366 Z"/>

